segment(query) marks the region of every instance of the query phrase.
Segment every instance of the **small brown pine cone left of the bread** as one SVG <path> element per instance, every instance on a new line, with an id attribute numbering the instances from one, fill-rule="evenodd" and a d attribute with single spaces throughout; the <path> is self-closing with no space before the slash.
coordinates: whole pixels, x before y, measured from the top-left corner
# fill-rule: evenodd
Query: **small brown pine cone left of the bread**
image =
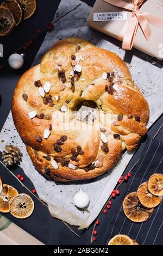
<path id="1" fill-rule="evenodd" d="M 6 145 L 2 153 L 3 163 L 6 166 L 12 166 L 21 160 L 22 153 L 20 149 L 13 145 Z"/>

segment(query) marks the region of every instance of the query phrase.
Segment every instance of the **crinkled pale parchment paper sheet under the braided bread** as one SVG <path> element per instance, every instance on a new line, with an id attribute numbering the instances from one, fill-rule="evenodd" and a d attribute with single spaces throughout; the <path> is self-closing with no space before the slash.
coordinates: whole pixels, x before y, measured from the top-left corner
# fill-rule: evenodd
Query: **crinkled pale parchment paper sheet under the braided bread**
<path id="1" fill-rule="evenodd" d="M 117 46 L 118 41 L 109 37 L 108 39 L 110 39 L 111 42 L 106 41 L 103 39 L 103 34 L 87 27 L 86 19 L 90 13 L 91 7 L 85 3 L 78 0 L 62 0 L 57 10 L 58 17 L 68 10 L 71 10 L 79 3 L 82 5 L 80 5 L 77 10 L 57 22 L 53 32 L 47 33 L 33 65 L 40 63 L 43 54 L 45 54 L 55 41 L 70 36 L 78 36 L 90 40 L 96 46 L 115 52 L 124 59 L 125 51 Z M 56 16 L 54 16 L 54 20 L 55 19 Z M 131 56 L 131 53 L 129 54 Z M 147 57 L 140 52 L 139 54 L 140 58 L 135 55 L 131 58 L 130 71 L 133 80 L 140 86 L 140 89 L 145 94 L 149 103 L 151 110 L 151 117 L 148 123 L 149 127 L 162 113 L 163 74 L 162 69 L 157 66 L 157 64 L 160 65 L 159 60 L 158 63 L 152 65 L 148 62 L 148 60 L 152 60 L 151 57 Z M 39 197 L 48 204 L 52 216 L 64 220 L 71 225 L 79 225 L 79 228 L 86 228 L 95 220 L 111 191 L 117 184 L 117 180 L 120 178 L 134 154 L 128 152 L 124 153 L 122 160 L 117 164 L 114 170 L 109 170 L 108 173 L 105 173 L 97 179 L 60 184 L 59 182 L 47 181 L 35 170 L 27 154 L 26 147 L 15 129 L 11 113 L 0 134 L 0 151 L 3 151 L 5 144 L 8 143 L 17 145 L 17 147 L 21 149 L 23 157 L 20 166 L 33 182 Z M 90 204 L 85 211 L 78 210 L 73 204 L 73 195 L 79 188 L 83 188 L 90 198 Z"/>

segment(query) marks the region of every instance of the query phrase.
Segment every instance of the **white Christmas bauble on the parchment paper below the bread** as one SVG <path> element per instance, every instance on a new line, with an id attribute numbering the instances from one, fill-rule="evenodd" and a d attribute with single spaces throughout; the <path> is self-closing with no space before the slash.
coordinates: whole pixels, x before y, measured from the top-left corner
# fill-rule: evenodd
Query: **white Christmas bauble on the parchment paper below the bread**
<path id="1" fill-rule="evenodd" d="M 82 189 L 79 189 L 79 191 L 74 195 L 73 200 L 74 200 L 74 204 L 78 208 L 85 208 L 90 201 L 89 197 Z"/>

